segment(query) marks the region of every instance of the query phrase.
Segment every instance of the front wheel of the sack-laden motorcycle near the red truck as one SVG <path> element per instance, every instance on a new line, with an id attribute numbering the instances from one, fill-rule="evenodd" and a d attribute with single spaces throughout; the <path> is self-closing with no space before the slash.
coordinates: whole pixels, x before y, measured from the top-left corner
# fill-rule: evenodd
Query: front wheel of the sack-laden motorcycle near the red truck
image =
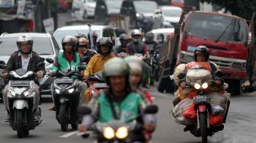
<path id="1" fill-rule="evenodd" d="M 199 113 L 200 114 L 200 132 L 202 136 L 202 142 L 207 143 L 207 117 L 206 113 Z"/>

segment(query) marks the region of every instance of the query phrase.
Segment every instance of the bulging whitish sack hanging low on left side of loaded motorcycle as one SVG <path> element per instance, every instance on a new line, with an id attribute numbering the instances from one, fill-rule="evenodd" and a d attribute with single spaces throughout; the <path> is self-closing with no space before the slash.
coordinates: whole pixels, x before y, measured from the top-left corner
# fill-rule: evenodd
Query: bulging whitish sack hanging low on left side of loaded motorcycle
<path id="1" fill-rule="evenodd" d="M 180 103 L 178 103 L 174 109 L 171 110 L 172 116 L 174 116 L 175 122 L 181 125 L 192 125 L 196 122 L 193 119 L 186 119 L 183 116 L 184 110 L 186 110 L 189 106 L 191 106 L 193 100 L 190 98 L 185 98 Z"/>

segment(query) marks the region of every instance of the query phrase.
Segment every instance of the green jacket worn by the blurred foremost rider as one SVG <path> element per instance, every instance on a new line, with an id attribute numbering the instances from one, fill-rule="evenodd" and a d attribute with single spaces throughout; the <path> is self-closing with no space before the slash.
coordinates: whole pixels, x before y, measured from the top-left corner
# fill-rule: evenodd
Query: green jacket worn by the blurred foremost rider
<path id="1" fill-rule="evenodd" d="M 128 94 L 121 103 L 113 101 L 114 108 L 117 113 L 117 118 L 125 122 L 129 122 L 136 119 L 139 116 L 140 111 L 145 108 L 144 100 L 139 94 L 131 92 Z M 94 103 L 94 108 L 98 109 L 98 120 L 100 122 L 109 122 L 114 120 L 114 115 L 110 107 L 110 100 L 102 92 L 98 100 Z"/>

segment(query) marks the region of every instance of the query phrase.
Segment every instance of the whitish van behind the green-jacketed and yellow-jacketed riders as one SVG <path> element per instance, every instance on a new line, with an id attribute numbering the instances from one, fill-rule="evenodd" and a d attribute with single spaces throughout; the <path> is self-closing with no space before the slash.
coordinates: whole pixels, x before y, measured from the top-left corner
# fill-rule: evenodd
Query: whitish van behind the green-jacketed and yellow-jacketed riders
<path id="1" fill-rule="evenodd" d="M 117 44 L 116 34 L 113 27 L 105 25 L 91 25 L 91 31 L 98 33 L 97 41 L 101 37 L 110 37 L 111 40 L 114 40 L 114 45 Z M 53 37 L 55 37 L 59 47 L 62 47 L 61 41 L 63 37 L 66 37 L 67 35 L 75 36 L 78 33 L 84 33 L 87 36 L 89 33 L 88 25 L 72 25 L 60 27 L 53 33 Z"/>

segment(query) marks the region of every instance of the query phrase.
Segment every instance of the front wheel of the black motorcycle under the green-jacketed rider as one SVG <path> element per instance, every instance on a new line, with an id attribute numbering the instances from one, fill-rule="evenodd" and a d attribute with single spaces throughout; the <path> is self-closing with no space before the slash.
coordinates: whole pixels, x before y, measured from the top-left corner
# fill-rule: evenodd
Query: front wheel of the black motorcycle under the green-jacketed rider
<path id="1" fill-rule="evenodd" d="M 66 132 L 68 130 L 68 120 L 66 116 L 66 103 L 62 103 L 59 107 L 59 120 L 60 120 L 60 127 L 62 132 Z"/>

